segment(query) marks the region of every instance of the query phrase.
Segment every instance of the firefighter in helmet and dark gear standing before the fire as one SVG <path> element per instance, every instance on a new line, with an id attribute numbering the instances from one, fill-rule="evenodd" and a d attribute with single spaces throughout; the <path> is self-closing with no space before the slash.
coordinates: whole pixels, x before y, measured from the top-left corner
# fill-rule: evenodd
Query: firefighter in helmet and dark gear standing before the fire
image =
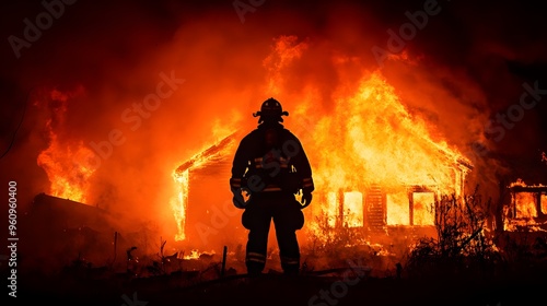
<path id="1" fill-rule="evenodd" d="M 233 203 L 245 210 L 242 224 L 248 229 L 247 273 L 258 275 L 263 272 L 274 221 L 283 273 L 298 274 L 296 231 L 304 225 L 302 209 L 312 201 L 312 168 L 300 140 L 281 123 L 282 116 L 289 113 L 282 110 L 278 101 L 266 99 L 253 116 L 259 117 L 258 127 L 242 139 L 230 178 Z M 296 195 L 301 195 L 300 202 Z"/>

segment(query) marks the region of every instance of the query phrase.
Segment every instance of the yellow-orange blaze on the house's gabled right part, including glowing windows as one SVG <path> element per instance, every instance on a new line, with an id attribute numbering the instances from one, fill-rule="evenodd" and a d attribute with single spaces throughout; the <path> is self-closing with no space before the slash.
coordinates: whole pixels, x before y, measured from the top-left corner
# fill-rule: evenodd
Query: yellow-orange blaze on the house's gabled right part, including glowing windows
<path id="1" fill-rule="evenodd" d="M 363 224 L 362 192 L 373 185 L 388 193 L 386 221 L 393 225 L 408 225 L 410 220 L 414 225 L 433 225 L 435 193 L 463 193 L 470 163 L 443 139 L 433 139 L 433 127 L 405 108 L 379 71 L 364 75 L 356 92 L 336 96 L 335 110 L 316 121 L 306 141 L 314 144 L 314 179 L 318 190 L 345 191 L 341 213 L 348 225 Z M 412 212 L 411 186 L 430 190 L 411 196 Z M 328 193 L 323 208 L 330 216 L 340 213 L 335 203 L 340 198 L 334 195 Z"/>

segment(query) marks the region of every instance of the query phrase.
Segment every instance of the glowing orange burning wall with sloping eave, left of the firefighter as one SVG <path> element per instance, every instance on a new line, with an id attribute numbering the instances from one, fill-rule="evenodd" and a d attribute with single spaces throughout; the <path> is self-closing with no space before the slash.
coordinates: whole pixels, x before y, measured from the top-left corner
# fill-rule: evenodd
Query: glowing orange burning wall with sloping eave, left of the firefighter
<path id="1" fill-rule="evenodd" d="M 203 248 L 214 234 L 216 239 L 233 242 L 241 224 L 240 219 L 229 217 L 235 213 L 226 213 L 226 207 L 235 210 L 226 179 L 238 137 L 241 132 L 226 136 L 173 170 L 177 195 L 171 207 L 177 224 L 176 240 Z"/>

